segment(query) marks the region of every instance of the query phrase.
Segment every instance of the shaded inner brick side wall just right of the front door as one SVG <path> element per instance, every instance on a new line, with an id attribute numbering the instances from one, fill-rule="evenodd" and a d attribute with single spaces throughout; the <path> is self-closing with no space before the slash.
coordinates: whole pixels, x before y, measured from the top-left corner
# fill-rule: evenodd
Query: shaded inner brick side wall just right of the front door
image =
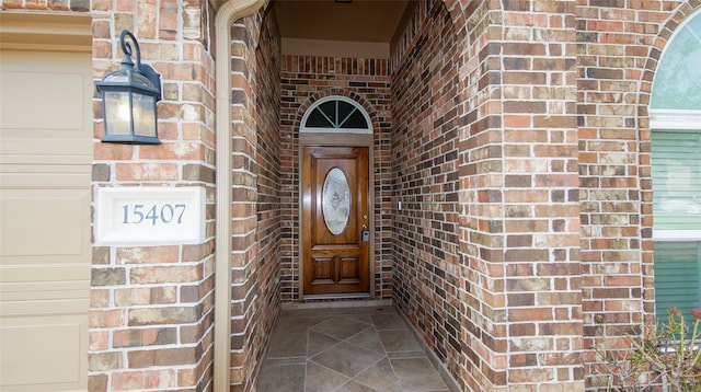
<path id="1" fill-rule="evenodd" d="M 392 57 L 394 299 L 457 374 L 464 359 L 464 305 L 458 298 L 458 42 L 441 2 L 418 3 L 413 18 L 416 34 L 407 32 Z"/>

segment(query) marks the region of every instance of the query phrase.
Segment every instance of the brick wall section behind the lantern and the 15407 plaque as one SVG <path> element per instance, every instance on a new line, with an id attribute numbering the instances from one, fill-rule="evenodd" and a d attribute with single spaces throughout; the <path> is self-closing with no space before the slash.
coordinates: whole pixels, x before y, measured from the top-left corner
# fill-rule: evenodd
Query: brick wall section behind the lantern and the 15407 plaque
<path id="1" fill-rule="evenodd" d="M 206 22 L 212 11 L 207 2 L 176 0 L 96 1 L 91 11 L 95 79 L 118 66 L 119 33 L 128 28 L 163 82 L 160 146 L 100 142 L 102 108 L 94 101 L 93 184 L 203 187 L 207 234 L 194 245 L 94 247 L 90 390 L 206 389 L 214 339 L 214 60 Z"/>

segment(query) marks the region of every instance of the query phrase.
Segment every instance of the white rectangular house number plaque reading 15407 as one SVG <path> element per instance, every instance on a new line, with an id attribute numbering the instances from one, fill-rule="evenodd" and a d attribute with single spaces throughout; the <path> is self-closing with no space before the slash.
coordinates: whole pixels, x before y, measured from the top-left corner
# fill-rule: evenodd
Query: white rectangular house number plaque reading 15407
<path id="1" fill-rule="evenodd" d="M 200 243 L 205 237 L 202 187 L 101 187 L 95 196 L 100 245 Z"/>

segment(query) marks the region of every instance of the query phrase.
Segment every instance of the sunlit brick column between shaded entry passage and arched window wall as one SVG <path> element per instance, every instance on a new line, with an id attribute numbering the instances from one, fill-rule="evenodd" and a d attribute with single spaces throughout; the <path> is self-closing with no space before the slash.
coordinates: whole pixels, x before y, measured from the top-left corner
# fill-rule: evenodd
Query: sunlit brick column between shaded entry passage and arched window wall
<path id="1" fill-rule="evenodd" d="M 575 2 L 498 7 L 469 16 L 461 74 L 464 378 L 583 390 Z"/>

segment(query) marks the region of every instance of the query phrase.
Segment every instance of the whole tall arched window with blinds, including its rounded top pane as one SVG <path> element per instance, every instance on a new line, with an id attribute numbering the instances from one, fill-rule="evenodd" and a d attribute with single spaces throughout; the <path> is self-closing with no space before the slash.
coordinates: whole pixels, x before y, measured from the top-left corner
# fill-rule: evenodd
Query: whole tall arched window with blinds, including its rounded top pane
<path id="1" fill-rule="evenodd" d="M 701 11 L 677 28 L 651 100 L 655 307 L 701 308 Z"/>

